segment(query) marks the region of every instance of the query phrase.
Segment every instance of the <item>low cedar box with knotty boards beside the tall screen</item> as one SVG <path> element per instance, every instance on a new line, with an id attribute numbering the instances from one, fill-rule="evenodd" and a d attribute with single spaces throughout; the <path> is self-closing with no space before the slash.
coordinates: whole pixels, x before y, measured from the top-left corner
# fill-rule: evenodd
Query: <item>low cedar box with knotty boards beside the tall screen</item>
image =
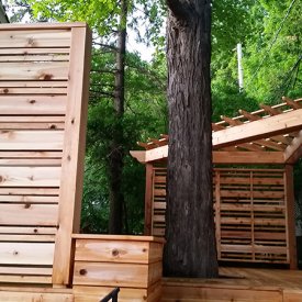
<path id="1" fill-rule="evenodd" d="M 120 287 L 121 301 L 159 301 L 161 238 L 152 236 L 74 235 L 76 301 L 99 301 Z"/>

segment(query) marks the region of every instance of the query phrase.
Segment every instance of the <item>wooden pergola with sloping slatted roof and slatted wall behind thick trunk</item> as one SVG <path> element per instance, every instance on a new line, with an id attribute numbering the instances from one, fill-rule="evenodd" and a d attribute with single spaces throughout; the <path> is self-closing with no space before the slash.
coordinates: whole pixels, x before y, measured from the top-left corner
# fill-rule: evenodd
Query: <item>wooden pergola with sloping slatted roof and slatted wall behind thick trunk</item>
<path id="1" fill-rule="evenodd" d="M 297 266 L 293 164 L 302 156 L 302 99 L 282 100 L 212 124 L 221 260 Z M 131 155 L 146 164 L 145 233 L 164 236 L 168 135 L 138 145 L 145 150 Z"/>

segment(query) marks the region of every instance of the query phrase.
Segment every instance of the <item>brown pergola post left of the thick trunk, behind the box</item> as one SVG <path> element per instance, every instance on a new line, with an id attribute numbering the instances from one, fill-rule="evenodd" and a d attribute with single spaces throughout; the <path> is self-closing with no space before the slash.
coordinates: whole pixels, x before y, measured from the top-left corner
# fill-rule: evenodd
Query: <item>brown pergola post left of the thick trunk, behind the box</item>
<path id="1" fill-rule="evenodd" d="M 146 164 L 145 189 L 145 235 L 152 235 L 152 209 L 153 209 L 153 165 Z"/>

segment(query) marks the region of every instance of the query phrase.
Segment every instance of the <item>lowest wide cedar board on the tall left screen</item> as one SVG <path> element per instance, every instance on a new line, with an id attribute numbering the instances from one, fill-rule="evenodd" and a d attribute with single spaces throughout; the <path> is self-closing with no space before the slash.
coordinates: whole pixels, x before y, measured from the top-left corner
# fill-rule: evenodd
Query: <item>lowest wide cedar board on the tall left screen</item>
<path id="1" fill-rule="evenodd" d="M 0 243 L 1 265 L 53 265 L 52 243 Z"/>

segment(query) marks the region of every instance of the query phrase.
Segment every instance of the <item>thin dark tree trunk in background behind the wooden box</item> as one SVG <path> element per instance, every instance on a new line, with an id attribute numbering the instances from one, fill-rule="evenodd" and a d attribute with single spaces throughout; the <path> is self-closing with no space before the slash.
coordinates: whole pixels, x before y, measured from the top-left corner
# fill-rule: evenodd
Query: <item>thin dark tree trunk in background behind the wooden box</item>
<path id="1" fill-rule="evenodd" d="M 122 189 L 123 174 L 123 127 L 124 115 L 124 83 L 125 83 L 125 53 L 126 53 L 126 20 L 127 1 L 121 0 L 120 30 L 116 49 L 116 72 L 114 111 L 116 122 L 113 128 L 111 153 L 110 153 L 110 220 L 109 233 L 121 234 L 123 231 L 124 194 Z"/>

